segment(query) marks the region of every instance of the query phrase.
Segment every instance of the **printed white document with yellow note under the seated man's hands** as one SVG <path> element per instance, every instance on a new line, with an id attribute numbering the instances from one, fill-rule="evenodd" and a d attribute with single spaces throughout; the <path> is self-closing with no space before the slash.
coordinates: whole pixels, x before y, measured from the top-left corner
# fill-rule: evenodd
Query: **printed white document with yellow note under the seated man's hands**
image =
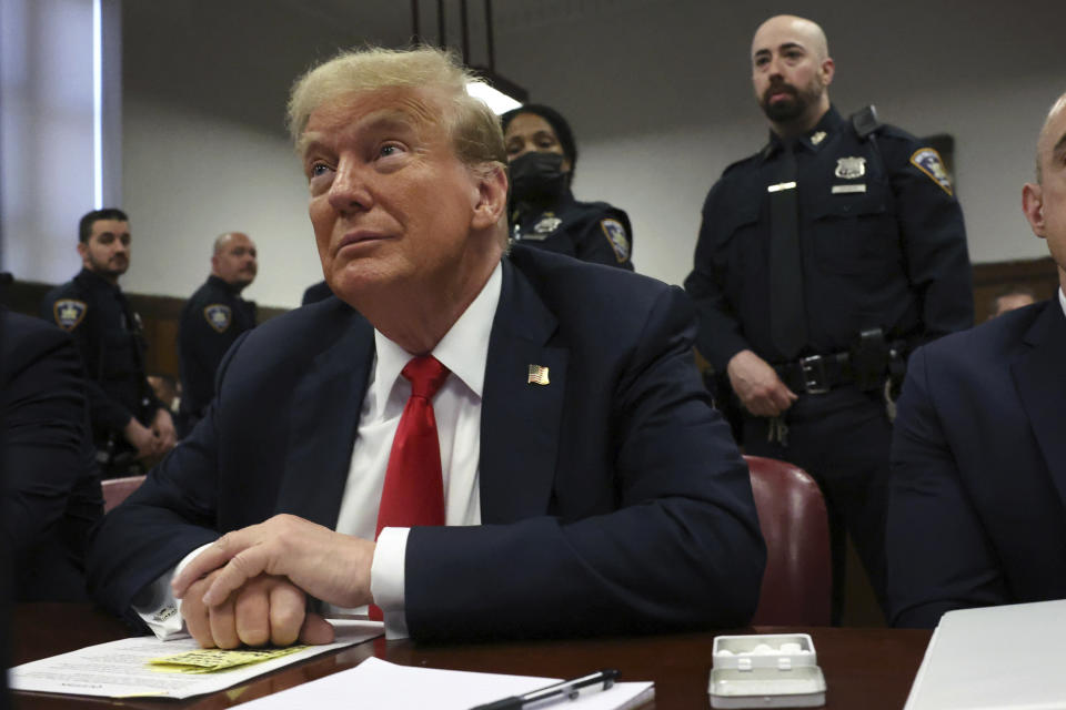
<path id="1" fill-rule="evenodd" d="M 362 643 L 383 633 L 381 621 L 331 619 L 333 643 L 312 646 L 281 658 L 201 674 L 152 670 L 148 661 L 199 649 L 193 639 L 160 641 L 142 636 L 90 646 L 61 656 L 16 666 L 8 676 L 12 690 L 62 692 L 104 698 L 190 698 L 214 692 L 290 663 L 345 646 Z"/>

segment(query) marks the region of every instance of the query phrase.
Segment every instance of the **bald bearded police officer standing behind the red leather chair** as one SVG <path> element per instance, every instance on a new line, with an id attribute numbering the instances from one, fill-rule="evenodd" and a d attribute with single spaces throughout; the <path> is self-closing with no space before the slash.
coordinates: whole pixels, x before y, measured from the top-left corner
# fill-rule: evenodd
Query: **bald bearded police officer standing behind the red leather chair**
<path id="1" fill-rule="evenodd" d="M 973 324 L 963 215 L 935 150 L 831 105 L 817 24 L 771 18 L 752 62 L 770 142 L 712 187 L 685 288 L 746 453 L 805 468 L 825 494 L 838 621 L 845 528 L 884 608 L 886 381 L 916 344 Z"/>

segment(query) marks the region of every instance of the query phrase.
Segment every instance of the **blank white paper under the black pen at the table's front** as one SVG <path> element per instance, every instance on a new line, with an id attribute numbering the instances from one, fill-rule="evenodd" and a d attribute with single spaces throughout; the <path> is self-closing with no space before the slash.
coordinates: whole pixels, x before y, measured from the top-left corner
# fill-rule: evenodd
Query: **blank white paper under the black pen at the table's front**
<path id="1" fill-rule="evenodd" d="M 473 706 L 526 693 L 560 680 L 396 666 L 378 658 L 368 658 L 355 668 L 252 700 L 241 708 L 469 710 Z M 576 700 L 560 703 L 559 707 L 564 710 L 623 710 L 637 708 L 654 697 L 655 687 L 651 682 L 624 682 L 600 692 L 582 692 Z"/>

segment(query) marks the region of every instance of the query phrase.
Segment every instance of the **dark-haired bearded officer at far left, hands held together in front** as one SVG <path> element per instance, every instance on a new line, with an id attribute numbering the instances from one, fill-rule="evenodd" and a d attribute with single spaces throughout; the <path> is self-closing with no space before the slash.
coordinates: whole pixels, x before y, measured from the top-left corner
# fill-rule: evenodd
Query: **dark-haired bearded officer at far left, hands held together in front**
<path id="1" fill-rule="evenodd" d="M 174 425 L 148 384 L 141 320 L 119 287 L 130 266 L 129 217 L 115 209 L 89 212 L 78 240 L 82 270 L 44 296 L 41 316 L 78 344 L 103 476 L 143 473 L 174 446 Z"/>

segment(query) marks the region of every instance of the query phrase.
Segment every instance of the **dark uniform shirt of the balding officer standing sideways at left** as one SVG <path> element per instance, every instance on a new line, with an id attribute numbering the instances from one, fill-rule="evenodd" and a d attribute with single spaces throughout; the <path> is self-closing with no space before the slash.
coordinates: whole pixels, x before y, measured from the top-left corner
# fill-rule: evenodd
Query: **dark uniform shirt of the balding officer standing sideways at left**
<path id="1" fill-rule="evenodd" d="M 255 327 L 255 304 L 218 276 L 209 276 L 181 310 L 181 412 L 203 416 L 214 397 L 214 373 L 230 345 Z"/>

